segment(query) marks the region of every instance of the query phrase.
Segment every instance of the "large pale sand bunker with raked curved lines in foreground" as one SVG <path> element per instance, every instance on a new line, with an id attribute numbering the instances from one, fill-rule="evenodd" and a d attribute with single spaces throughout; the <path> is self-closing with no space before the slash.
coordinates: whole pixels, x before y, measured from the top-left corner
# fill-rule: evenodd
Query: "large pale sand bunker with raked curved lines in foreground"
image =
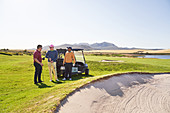
<path id="1" fill-rule="evenodd" d="M 125 74 L 91 83 L 55 112 L 170 113 L 170 74 Z"/>

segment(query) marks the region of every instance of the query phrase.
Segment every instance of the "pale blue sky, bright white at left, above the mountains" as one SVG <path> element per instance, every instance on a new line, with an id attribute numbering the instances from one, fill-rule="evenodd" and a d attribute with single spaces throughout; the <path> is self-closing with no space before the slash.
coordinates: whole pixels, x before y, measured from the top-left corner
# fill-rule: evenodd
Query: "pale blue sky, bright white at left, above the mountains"
<path id="1" fill-rule="evenodd" d="M 103 41 L 170 48 L 170 0 L 0 0 L 0 48 Z"/>

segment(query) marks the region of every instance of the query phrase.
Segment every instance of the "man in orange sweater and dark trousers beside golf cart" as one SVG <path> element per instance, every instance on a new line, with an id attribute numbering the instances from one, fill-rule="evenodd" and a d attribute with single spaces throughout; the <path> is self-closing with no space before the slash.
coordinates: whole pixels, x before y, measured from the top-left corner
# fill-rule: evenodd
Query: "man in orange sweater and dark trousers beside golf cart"
<path id="1" fill-rule="evenodd" d="M 63 65 L 65 65 L 65 75 L 63 80 L 67 79 L 68 74 L 69 74 L 69 80 L 72 80 L 71 78 L 72 66 L 73 66 L 72 62 L 74 61 L 74 65 L 75 65 L 76 61 L 75 61 L 74 53 L 71 50 L 72 47 L 68 47 L 68 52 L 65 54 L 65 58 L 63 61 Z"/>

